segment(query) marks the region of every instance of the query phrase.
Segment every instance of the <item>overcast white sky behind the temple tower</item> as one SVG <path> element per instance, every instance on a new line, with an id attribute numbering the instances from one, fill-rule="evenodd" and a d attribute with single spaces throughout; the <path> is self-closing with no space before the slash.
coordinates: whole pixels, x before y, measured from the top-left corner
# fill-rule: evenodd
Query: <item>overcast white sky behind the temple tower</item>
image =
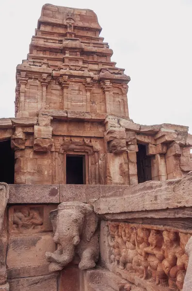
<path id="1" fill-rule="evenodd" d="M 0 1 L 0 117 L 14 116 L 16 65 L 27 58 L 45 0 Z M 131 77 L 130 118 L 141 124 L 175 123 L 192 133 L 192 0 L 52 0 L 89 8 Z"/>

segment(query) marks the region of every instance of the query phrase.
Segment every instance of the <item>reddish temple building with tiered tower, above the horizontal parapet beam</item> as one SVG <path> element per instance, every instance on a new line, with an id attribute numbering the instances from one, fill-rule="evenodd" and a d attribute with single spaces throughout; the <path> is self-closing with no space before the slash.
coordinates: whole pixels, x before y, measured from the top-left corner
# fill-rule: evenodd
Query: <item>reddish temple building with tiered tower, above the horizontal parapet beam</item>
<path id="1" fill-rule="evenodd" d="M 0 138 L 15 149 L 16 184 L 66 183 L 66 155 L 77 153 L 85 184 L 137 184 L 138 144 L 151 172 L 142 181 L 192 170 L 188 127 L 129 119 L 130 78 L 111 62 L 100 31 L 91 10 L 43 6 L 27 60 L 16 68 L 16 118 L 0 120 Z"/>

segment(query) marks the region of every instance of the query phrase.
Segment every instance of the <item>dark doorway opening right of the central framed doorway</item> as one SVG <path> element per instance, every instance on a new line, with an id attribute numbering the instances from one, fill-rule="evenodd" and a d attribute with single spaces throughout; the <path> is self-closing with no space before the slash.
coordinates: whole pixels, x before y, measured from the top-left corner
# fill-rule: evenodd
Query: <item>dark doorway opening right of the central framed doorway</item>
<path id="1" fill-rule="evenodd" d="M 151 158 L 146 155 L 146 146 L 138 144 L 137 152 L 137 177 L 138 183 L 152 180 Z"/>

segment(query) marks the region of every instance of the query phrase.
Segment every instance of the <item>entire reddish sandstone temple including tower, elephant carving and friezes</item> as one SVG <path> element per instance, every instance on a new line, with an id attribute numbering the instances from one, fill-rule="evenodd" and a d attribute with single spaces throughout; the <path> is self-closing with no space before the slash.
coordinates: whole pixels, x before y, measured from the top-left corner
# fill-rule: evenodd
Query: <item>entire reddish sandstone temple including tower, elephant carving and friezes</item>
<path id="1" fill-rule="evenodd" d="M 191 291 L 192 135 L 129 118 L 96 14 L 45 4 L 0 119 L 0 291 Z"/>

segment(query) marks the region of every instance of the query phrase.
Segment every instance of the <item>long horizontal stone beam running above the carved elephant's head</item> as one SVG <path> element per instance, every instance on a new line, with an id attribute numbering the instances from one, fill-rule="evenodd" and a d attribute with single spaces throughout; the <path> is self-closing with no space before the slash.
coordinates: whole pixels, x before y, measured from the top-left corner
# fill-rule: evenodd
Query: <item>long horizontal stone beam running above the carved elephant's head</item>
<path id="1" fill-rule="evenodd" d="M 10 184 L 9 204 L 61 203 L 91 200 L 106 197 L 114 191 L 120 192 L 126 185 L 16 185 Z"/>

